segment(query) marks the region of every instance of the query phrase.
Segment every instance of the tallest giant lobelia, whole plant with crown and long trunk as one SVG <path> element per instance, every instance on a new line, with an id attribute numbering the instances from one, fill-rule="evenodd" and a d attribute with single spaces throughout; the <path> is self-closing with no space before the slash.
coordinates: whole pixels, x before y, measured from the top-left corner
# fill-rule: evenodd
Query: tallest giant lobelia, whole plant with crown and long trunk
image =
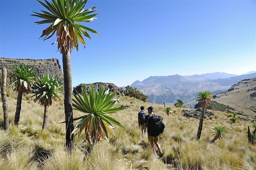
<path id="1" fill-rule="evenodd" d="M 78 51 L 78 40 L 84 45 L 85 42 L 82 35 L 91 39 L 87 31 L 98 34 L 91 28 L 78 24 L 79 22 L 93 21 L 97 14 L 94 12 L 96 7 L 84 10 L 87 0 L 51 0 L 45 3 L 38 1 L 48 11 L 40 10 L 42 13 L 34 12 L 33 16 L 43 18 L 44 20 L 35 22 L 36 24 L 50 24 L 42 33 L 40 38 L 47 40 L 55 33 L 58 43 L 57 49 L 62 54 L 63 75 L 64 75 L 64 107 L 66 121 L 66 146 L 68 151 L 72 150 L 74 135 L 71 132 L 73 126 L 73 109 L 72 109 L 72 77 L 70 65 L 70 53 L 73 47 Z M 90 15 L 88 15 L 90 14 Z M 54 43 L 52 43 L 54 44 Z"/>

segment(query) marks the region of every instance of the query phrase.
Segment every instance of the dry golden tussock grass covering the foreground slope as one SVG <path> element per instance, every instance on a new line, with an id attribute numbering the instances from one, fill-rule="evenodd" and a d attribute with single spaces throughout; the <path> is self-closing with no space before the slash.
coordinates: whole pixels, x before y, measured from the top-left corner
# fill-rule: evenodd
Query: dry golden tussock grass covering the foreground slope
<path id="1" fill-rule="evenodd" d="M 8 97 L 11 123 L 16 109 L 15 97 L 13 93 Z M 199 120 L 182 117 L 180 111 L 184 108 L 172 107 L 174 113 L 168 117 L 160 104 L 122 97 L 120 105 L 130 105 L 129 109 L 114 114 L 127 129 L 116 127 L 116 136 L 109 142 L 96 144 L 91 154 L 75 147 L 73 154 L 68 155 L 64 144 L 65 124 L 58 124 L 64 121 L 63 102 L 50 107 L 49 126 L 42 132 L 44 108 L 23 96 L 19 127 L 11 124 L 9 133 L 0 130 L 0 169 L 256 169 L 256 146 L 248 144 L 245 138 L 251 122 L 230 124 L 227 113 L 213 111 L 216 117 L 204 120 L 202 137 L 197 142 Z M 137 123 L 141 105 L 153 105 L 155 113 L 162 116 L 166 124 L 160 139 L 164 152 L 162 159 L 147 149 L 147 136 L 141 138 Z M 74 111 L 74 117 L 80 115 Z M 0 123 L 3 126 L 2 109 Z M 225 126 L 228 134 L 226 138 L 208 144 L 213 138 L 212 127 L 216 125 Z M 75 142 L 81 144 L 83 140 L 82 135 L 76 137 Z M 86 144 L 82 145 L 86 147 Z"/>

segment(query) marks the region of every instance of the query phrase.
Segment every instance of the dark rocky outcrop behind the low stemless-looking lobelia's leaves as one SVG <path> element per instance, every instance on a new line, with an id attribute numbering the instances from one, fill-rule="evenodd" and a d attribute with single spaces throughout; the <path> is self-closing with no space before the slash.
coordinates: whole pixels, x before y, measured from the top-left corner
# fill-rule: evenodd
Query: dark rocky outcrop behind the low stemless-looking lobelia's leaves
<path id="1" fill-rule="evenodd" d="M 113 83 L 96 82 L 96 83 L 92 83 L 92 84 L 93 84 L 93 90 L 95 90 L 95 87 L 98 85 L 98 90 L 97 90 L 98 92 L 100 91 L 100 87 L 104 87 L 105 89 L 109 89 L 110 91 L 116 93 L 116 95 L 124 96 L 124 89 L 121 87 L 117 87 Z M 89 84 L 84 84 L 84 83 L 81 83 L 78 86 L 76 86 L 75 88 L 73 88 L 73 93 L 76 94 L 76 91 L 77 91 L 77 93 L 82 94 L 82 89 L 81 89 L 82 86 L 86 87 L 86 91 L 89 94 Z"/>

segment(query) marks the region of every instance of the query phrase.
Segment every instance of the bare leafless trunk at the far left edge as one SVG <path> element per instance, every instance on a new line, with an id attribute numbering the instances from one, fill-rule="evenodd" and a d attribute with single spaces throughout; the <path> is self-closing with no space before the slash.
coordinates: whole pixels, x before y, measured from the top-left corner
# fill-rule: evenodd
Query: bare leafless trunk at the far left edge
<path id="1" fill-rule="evenodd" d="M 8 104 L 7 104 L 7 95 L 6 95 L 6 78 L 7 78 L 7 70 L 6 67 L 2 68 L 2 102 L 3 102 L 3 110 L 4 110 L 4 128 L 5 130 L 9 130 L 9 118 L 8 118 Z"/>

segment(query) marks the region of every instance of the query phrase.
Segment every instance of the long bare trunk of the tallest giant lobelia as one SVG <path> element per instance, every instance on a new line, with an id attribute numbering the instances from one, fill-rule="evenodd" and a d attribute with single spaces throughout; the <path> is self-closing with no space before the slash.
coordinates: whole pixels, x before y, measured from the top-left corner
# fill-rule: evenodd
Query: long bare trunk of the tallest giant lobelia
<path id="1" fill-rule="evenodd" d="M 73 108 L 72 108 L 72 77 L 70 65 L 70 51 L 69 39 L 67 37 L 67 51 L 62 52 L 63 75 L 64 75 L 64 108 L 65 108 L 65 122 L 66 122 L 66 146 L 69 152 L 72 151 L 72 144 L 74 142 L 73 125 Z"/>

